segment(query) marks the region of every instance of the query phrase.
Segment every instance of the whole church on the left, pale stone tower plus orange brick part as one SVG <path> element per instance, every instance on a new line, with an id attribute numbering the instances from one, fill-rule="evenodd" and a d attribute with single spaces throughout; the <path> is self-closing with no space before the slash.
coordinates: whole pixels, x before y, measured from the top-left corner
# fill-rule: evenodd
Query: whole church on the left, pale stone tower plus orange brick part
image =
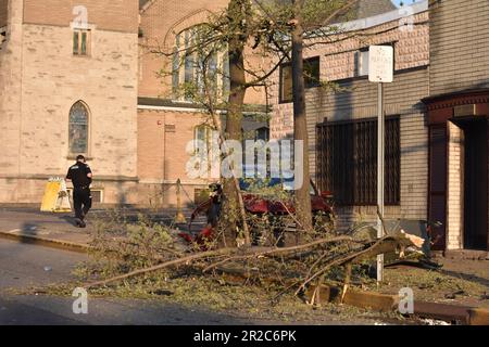
<path id="1" fill-rule="evenodd" d="M 172 77 L 159 72 L 172 59 L 152 50 L 175 47 L 226 4 L 0 0 L 0 203 L 39 203 L 47 179 L 80 153 L 98 202 L 172 206 L 180 179 L 191 203 L 208 181 L 187 178 L 186 145 L 205 136 L 206 117 L 171 94 Z M 248 117 L 263 112 L 260 91 L 247 103 Z M 267 123 L 244 128 L 266 131 Z"/>

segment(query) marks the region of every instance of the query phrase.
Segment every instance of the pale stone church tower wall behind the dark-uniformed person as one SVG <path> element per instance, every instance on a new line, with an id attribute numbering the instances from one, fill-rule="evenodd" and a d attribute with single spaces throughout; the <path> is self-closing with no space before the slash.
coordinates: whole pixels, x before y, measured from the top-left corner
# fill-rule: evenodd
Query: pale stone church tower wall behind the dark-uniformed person
<path id="1" fill-rule="evenodd" d="M 64 176 L 80 153 L 96 168 L 95 190 L 103 189 L 109 201 L 131 195 L 138 176 L 138 4 L 1 5 L 0 201 L 39 202 L 47 179 Z"/>

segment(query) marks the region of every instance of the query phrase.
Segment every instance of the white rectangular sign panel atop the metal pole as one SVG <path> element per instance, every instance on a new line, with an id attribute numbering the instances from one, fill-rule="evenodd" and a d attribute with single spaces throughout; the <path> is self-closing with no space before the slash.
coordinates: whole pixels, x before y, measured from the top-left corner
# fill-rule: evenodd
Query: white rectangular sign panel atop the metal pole
<path id="1" fill-rule="evenodd" d="M 391 46 L 371 46 L 368 80 L 380 83 L 393 81 L 393 48 Z"/>

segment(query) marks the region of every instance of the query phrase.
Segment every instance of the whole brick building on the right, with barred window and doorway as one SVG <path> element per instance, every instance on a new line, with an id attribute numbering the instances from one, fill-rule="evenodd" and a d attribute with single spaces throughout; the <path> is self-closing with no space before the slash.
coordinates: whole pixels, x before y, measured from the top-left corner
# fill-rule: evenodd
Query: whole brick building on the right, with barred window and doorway
<path id="1" fill-rule="evenodd" d="M 375 220 L 377 86 L 367 79 L 368 47 L 392 46 L 386 217 L 441 221 L 435 249 L 488 249 L 489 3 L 421 1 L 393 11 L 384 4 L 344 24 L 353 37 L 306 51 L 310 75 L 339 89 L 306 80 L 312 175 L 333 191 L 338 227 Z M 276 76 L 271 137 L 277 139 L 293 132 L 287 68 Z"/>

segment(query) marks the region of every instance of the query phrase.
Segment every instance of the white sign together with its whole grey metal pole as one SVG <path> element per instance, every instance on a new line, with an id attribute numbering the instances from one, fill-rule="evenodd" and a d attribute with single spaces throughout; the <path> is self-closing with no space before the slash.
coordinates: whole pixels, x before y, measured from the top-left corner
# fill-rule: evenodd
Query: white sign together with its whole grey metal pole
<path id="1" fill-rule="evenodd" d="M 385 188 L 385 124 L 384 83 L 393 81 L 393 48 L 391 46 L 371 46 L 368 53 L 368 80 L 378 83 L 378 133 L 377 133 L 377 209 L 384 218 Z M 384 237 L 380 217 L 377 217 L 377 237 Z M 384 255 L 377 257 L 377 282 L 384 281 Z"/>

